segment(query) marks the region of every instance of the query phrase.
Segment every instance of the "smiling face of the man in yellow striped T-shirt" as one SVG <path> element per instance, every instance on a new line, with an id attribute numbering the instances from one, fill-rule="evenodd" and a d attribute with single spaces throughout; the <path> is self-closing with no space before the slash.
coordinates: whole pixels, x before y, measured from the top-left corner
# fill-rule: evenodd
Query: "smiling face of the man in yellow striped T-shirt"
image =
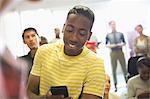
<path id="1" fill-rule="evenodd" d="M 76 56 L 82 52 L 85 42 L 89 38 L 90 20 L 82 15 L 70 14 L 64 25 L 65 54 Z"/>

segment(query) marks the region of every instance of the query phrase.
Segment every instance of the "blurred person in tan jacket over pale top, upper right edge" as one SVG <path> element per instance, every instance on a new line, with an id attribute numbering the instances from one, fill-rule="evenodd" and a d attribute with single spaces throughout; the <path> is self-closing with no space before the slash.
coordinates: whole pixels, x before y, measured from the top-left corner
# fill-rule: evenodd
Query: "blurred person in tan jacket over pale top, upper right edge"
<path id="1" fill-rule="evenodd" d="M 135 31 L 139 33 L 139 36 L 137 36 L 133 41 L 133 50 L 135 56 L 130 57 L 128 60 L 128 78 L 138 74 L 138 70 L 135 69 L 137 68 L 137 60 L 143 56 L 150 56 L 150 37 L 144 35 L 143 26 L 141 24 L 135 27 Z"/>

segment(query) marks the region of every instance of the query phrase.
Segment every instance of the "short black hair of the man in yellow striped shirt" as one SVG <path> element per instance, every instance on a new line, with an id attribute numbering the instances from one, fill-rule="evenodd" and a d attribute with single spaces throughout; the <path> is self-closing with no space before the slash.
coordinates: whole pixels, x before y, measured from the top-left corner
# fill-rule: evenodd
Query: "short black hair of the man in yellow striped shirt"
<path id="1" fill-rule="evenodd" d="M 88 8 L 86 6 L 82 6 L 82 5 L 77 5 L 77 6 L 74 6 L 68 12 L 67 19 L 69 18 L 70 14 L 83 15 L 83 16 L 87 17 L 91 21 L 90 30 L 92 29 L 92 26 L 93 26 L 93 23 L 94 23 L 94 20 L 95 20 L 95 16 L 94 16 L 93 11 L 90 8 Z"/>

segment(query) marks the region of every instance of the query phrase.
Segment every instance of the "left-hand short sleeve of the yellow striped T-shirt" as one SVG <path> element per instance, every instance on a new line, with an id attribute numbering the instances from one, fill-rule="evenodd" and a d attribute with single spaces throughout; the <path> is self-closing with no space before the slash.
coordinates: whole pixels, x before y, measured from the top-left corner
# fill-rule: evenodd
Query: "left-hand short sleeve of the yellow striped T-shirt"
<path id="1" fill-rule="evenodd" d="M 34 57 L 34 62 L 33 62 L 33 66 L 32 66 L 32 70 L 31 70 L 31 74 L 35 75 L 35 76 L 40 76 L 41 75 L 41 49 L 38 48 L 35 57 Z"/>

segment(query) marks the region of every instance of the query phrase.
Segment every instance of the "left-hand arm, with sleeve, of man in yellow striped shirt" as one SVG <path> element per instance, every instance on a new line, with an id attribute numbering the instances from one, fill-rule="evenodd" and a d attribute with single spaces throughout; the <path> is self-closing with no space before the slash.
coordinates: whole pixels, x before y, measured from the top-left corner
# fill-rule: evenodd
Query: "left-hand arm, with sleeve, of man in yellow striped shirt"
<path id="1" fill-rule="evenodd" d="M 45 50 L 45 46 L 41 46 L 35 55 L 34 64 L 28 79 L 27 84 L 27 95 L 29 99 L 70 99 L 70 97 L 64 98 L 63 95 L 49 95 L 45 93 L 43 95 L 40 94 L 40 77 L 42 71 L 42 62 L 43 62 L 43 53 Z M 48 92 L 49 90 L 47 90 Z"/>

